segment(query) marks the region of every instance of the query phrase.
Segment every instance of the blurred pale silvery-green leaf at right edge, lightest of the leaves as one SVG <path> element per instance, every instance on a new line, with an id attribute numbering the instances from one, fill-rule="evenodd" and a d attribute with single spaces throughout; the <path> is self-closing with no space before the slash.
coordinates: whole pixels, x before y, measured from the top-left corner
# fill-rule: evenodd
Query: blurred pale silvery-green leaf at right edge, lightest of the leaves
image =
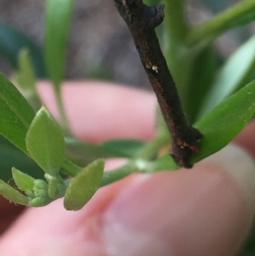
<path id="1" fill-rule="evenodd" d="M 229 57 L 218 73 L 201 107 L 200 117 L 246 84 L 255 68 L 255 36 Z"/>

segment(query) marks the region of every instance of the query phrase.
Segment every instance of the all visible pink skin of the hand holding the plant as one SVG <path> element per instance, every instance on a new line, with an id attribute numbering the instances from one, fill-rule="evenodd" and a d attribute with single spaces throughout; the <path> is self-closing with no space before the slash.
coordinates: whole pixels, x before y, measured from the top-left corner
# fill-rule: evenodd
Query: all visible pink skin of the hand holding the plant
<path id="1" fill-rule="evenodd" d="M 57 117 L 48 82 L 40 82 L 39 91 Z M 96 143 L 154 134 L 153 94 L 66 82 L 64 102 L 79 139 Z M 254 129 L 251 122 L 234 140 L 253 156 Z M 118 164 L 111 160 L 106 168 Z M 206 163 L 192 170 L 131 175 L 101 188 L 78 212 L 67 212 L 62 199 L 24 210 L 0 198 L 0 214 L 1 254 L 18 256 L 235 255 L 252 224 L 235 179 Z"/>

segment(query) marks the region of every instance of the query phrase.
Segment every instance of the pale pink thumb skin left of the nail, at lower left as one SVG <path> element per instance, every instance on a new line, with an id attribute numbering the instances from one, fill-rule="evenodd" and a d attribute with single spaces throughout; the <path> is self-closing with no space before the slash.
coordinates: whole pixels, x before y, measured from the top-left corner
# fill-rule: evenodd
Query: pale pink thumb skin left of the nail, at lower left
<path id="1" fill-rule="evenodd" d="M 1 237 L 1 255 L 105 256 L 100 239 L 101 213 L 131 179 L 133 176 L 101 188 L 76 212 L 65 210 L 63 198 L 46 207 L 28 208 Z"/>

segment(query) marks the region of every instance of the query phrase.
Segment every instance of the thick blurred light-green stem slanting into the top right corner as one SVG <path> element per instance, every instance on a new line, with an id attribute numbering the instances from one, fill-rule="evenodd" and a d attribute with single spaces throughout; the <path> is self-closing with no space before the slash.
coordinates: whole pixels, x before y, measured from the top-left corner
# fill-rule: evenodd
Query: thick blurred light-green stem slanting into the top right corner
<path id="1" fill-rule="evenodd" d="M 211 20 L 196 26 L 190 31 L 187 42 L 190 46 L 195 44 L 206 46 L 224 31 L 235 26 L 245 25 L 252 20 L 251 18 L 254 19 L 254 10 L 254 0 L 241 1 L 234 7 L 214 16 Z"/>

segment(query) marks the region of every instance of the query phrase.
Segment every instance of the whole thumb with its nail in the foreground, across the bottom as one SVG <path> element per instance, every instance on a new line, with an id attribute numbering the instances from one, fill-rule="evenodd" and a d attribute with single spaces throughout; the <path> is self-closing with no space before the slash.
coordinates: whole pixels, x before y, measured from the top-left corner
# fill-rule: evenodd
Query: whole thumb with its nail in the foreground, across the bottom
<path id="1" fill-rule="evenodd" d="M 79 212 L 66 212 L 61 200 L 32 208 L 2 237 L 1 253 L 234 255 L 254 217 L 254 168 L 246 151 L 229 145 L 192 170 L 105 186 Z"/>

